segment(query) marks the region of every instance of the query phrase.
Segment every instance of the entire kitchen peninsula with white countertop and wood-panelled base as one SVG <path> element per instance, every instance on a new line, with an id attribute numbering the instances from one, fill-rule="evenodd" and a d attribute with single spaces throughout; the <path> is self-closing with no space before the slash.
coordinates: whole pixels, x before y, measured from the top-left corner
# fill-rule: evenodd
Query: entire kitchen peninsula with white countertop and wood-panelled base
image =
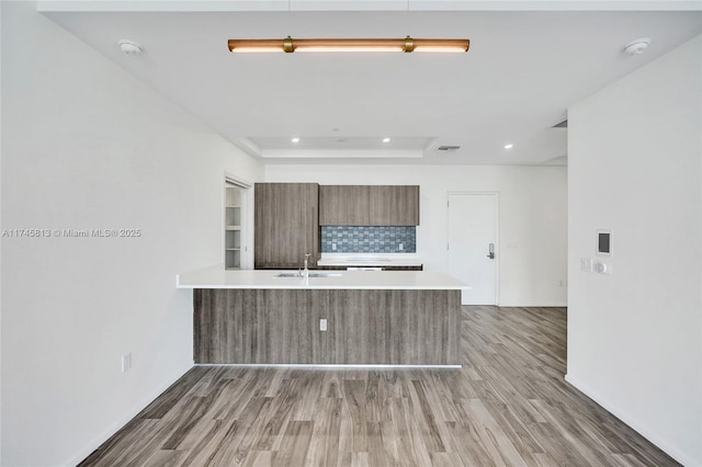
<path id="1" fill-rule="evenodd" d="M 419 271 L 296 274 L 223 265 L 179 274 L 178 287 L 193 289 L 195 363 L 461 365 L 461 289 L 469 287 L 460 281 Z"/>

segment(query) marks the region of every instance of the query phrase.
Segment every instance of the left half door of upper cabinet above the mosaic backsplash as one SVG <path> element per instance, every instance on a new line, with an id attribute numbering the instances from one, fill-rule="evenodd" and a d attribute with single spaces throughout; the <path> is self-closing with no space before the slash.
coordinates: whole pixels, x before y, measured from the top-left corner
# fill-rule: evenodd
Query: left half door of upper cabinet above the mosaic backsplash
<path id="1" fill-rule="evenodd" d="M 369 196 L 369 186 L 319 186 L 319 224 L 322 226 L 367 226 Z"/>

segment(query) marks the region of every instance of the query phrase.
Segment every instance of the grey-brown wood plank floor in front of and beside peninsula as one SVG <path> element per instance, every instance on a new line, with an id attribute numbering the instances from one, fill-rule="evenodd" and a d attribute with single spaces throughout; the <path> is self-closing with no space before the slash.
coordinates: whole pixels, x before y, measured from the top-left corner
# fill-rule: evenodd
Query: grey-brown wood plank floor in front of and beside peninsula
<path id="1" fill-rule="evenodd" d="M 565 309 L 461 335 L 463 369 L 195 367 L 80 465 L 678 465 L 564 381 Z"/>

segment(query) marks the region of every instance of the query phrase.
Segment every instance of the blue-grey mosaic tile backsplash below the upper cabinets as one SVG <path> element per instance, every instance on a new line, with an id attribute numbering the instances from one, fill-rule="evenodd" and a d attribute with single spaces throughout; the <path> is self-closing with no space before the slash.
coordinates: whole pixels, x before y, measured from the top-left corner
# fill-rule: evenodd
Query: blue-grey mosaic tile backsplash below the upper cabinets
<path id="1" fill-rule="evenodd" d="M 417 228 L 414 226 L 322 226 L 321 252 L 416 253 Z"/>

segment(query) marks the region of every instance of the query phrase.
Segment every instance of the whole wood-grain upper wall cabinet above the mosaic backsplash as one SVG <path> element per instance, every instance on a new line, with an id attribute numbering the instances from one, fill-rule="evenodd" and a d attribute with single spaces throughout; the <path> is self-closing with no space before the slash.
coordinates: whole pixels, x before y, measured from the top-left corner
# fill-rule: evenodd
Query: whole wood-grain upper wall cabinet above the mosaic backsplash
<path id="1" fill-rule="evenodd" d="M 322 226 L 418 226 L 418 185 L 321 185 Z"/>

